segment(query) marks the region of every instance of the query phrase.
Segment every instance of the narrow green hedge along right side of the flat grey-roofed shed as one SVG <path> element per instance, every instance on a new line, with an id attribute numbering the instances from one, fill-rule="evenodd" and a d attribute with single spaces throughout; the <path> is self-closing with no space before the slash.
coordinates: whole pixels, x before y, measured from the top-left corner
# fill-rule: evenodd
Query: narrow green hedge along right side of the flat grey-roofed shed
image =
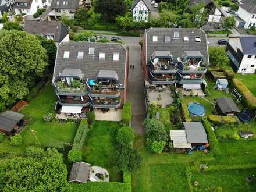
<path id="1" fill-rule="evenodd" d="M 218 154 L 219 153 L 219 141 L 218 141 L 214 131 L 212 130 L 211 123 L 208 120 L 203 120 L 203 123 L 204 123 L 204 128 L 208 135 L 210 148 L 211 148 L 212 152 L 214 152 L 214 154 Z"/>

